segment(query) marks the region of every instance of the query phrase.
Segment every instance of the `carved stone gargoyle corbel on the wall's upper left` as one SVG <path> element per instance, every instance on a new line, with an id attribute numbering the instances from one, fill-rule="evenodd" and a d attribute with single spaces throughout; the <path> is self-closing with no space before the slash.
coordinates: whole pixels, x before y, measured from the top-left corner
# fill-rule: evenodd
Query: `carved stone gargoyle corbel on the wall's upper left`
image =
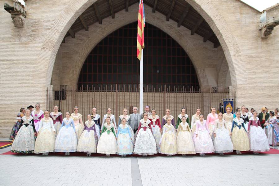
<path id="1" fill-rule="evenodd" d="M 24 1 L 13 0 L 13 6 L 4 3 L 4 9 L 11 14 L 15 27 L 24 27 L 26 11 L 24 10 Z"/>

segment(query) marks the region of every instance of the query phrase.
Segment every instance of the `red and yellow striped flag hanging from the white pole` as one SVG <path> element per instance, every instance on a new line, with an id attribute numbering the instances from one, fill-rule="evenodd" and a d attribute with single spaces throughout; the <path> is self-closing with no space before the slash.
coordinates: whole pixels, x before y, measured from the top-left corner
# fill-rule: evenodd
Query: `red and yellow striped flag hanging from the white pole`
<path id="1" fill-rule="evenodd" d="M 143 0 L 139 0 L 139 17 L 138 17 L 138 38 L 137 38 L 137 58 L 141 60 L 141 50 L 144 49 L 144 6 Z"/>

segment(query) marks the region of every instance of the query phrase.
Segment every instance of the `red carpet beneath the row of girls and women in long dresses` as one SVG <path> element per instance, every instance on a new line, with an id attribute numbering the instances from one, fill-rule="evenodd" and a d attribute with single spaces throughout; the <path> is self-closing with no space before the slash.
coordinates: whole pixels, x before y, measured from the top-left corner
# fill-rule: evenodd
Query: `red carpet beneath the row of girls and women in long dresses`
<path id="1" fill-rule="evenodd" d="M 232 152 L 232 153 L 225 153 L 225 155 L 234 155 L 234 154 L 236 154 L 235 151 Z M 242 154 L 253 154 L 253 152 L 246 151 L 246 152 L 242 152 Z M 262 152 L 260 154 L 279 154 L 279 150 L 271 148 L 270 151 Z M 9 151 L 9 152 L 6 152 L 6 153 L 2 153 L 1 155 L 22 155 L 22 154 L 11 153 Z M 41 155 L 41 154 L 32 154 L 32 155 Z M 208 156 L 208 155 L 211 156 L 211 155 L 219 155 L 219 154 L 216 154 L 216 153 L 206 154 L 206 156 Z M 49 156 L 65 156 L 65 153 L 49 153 Z M 86 153 L 74 152 L 74 153 L 70 153 L 70 156 L 86 156 Z M 105 156 L 105 154 L 92 153 L 91 156 Z M 120 155 L 111 154 L 110 156 L 117 156 L 117 157 L 119 157 Z M 141 157 L 141 155 L 137 155 L 137 154 L 127 155 L 127 157 L 131 157 L 131 156 L 133 156 L 133 157 Z M 166 156 L 166 155 L 158 153 L 156 155 L 151 155 L 151 156 L 156 157 L 156 156 Z M 173 156 L 181 156 L 181 155 L 173 155 Z M 199 156 L 199 154 L 189 154 L 187 156 Z"/>

